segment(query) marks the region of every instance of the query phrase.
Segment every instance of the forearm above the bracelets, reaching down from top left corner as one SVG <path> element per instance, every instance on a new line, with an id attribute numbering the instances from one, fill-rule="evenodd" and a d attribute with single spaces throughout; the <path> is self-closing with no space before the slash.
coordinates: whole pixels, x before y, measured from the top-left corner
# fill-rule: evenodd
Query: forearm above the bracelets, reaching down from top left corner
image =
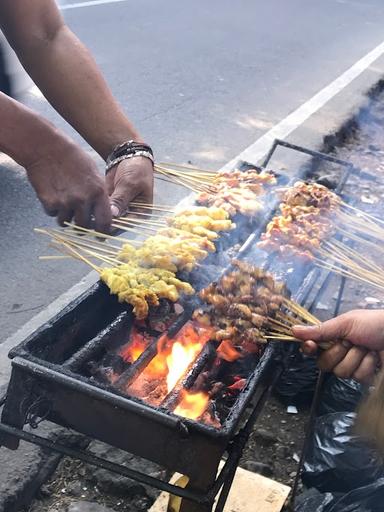
<path id="1" fill-rule="evenodd" d="M 40 0 L 37 4 L 40 11 L 34 7 L 32 19 L 28 18 L 32 28 L 15 25 L 12 18 L 4 29 L 48 101 L 104 159 L 116 144 L 140 140 L 93 57 L 63 23 L 54 3 Z"/>

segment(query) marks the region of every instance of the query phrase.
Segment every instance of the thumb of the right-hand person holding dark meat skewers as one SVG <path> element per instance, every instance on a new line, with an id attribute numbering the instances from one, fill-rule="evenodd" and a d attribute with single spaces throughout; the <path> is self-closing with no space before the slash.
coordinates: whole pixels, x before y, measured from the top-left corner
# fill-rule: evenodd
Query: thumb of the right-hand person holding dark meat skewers
<path id="1" fill-rule="evenodd" d="M 340 315 L 317 325 L 295 325 L 292 331 L 296 338 L 304 341 L 333 341 L 346 338 L 350 325 L 349 317 Z"/>

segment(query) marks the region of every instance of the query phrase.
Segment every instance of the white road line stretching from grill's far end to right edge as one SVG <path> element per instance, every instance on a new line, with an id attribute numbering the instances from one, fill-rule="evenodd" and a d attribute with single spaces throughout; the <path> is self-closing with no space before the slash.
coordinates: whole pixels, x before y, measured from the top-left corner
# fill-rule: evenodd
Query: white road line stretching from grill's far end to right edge
<path id="1" fill-rule="evenodd" d="M 232 169 L 239 160 L 257 163 L 263 156 L 265 156 L 275 139 L 285 139 L 290 133 L 302 125 L 312 114 L 320 110 L 329 100 L 334 98 L 339 94 L 339 92 L 355 80 L 355 78 L 368 69 L 375 60 L 383 55 L 383 53 L 384 42 L 376 46 L 376 48 L 358 60 L 333 82 L 321 89 L 321 91 L 312 96 L 312 98 L 282 119 L 273 128 L 268 130 L 256 142 L 248 146 L 239 155 L 225 164 L 223 169 Z"/>

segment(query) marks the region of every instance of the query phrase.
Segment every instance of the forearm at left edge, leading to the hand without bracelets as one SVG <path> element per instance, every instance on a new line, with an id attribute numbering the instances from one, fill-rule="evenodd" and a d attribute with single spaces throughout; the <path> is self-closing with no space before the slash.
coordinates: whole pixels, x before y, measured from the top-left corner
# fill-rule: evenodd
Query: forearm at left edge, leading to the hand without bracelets
<path id="1" fill-rule="evenodd" d="M 44 158 L 44 152 L 60 137 L 45 119 L 0 93 L 0 151 L 23 167 Z"/>

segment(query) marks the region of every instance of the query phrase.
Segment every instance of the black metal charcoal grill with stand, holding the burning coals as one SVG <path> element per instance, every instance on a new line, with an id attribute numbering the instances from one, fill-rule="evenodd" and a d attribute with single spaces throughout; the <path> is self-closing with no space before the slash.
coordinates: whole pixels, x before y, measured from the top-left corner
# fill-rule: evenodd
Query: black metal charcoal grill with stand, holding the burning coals
<path id="1" fill-rule="evenodd" d="M 284 141 L 275 141 L 263 167 L 268 165 L 279 146 L 342 166 L 343 172 L 336 189 L 338 193 L 342 191 L 351 173 L 362 172 L 348 162 Z M 254 242 L 275 208 L 276 205 L 271 205 L 265 223 L 248 237 L 238 258 L 252 257 Z M 270 261 L 266 265 L 273 267 Z M 326 288 L 330 274 L 312 268 L 311 265 L 302 267 L 301 272 L 301 285 L 293 290 L 293 297 L 301 304 L 306 303 L 318 280 L 323 280 L 312 299 L 313 306 Z M 344 281 L 340 280 L 336 313 L 342 300 Z M 185 308 L 184 313 L 170 327 L 169 335 L 175 335 L 190 318 L 192 306 Z M 11 380 L 6 397 L 0 402 L 0 405 L 4 404 L 0 444 L 17 449 L 22 439 L 152 485 L 184 498 L 182 512 L 211 511 L 214 498 L 220 492 L 215 510 L 221 512 L 248 436 L 268 394 L 284 369 L 287 351 L 290 349 L 279 343 L 271 343 L 266 347 L 222 427 L 215 428 L 181 418 L 172 412 L 178 401 L 178 391 L 188 387 L 188 382 L 193 382 L 211 357 L 209 344 L 184 380 L 178 383 L 176 393 L 167 398 L 168 409 L 152 407 L 127 397 L 119 389 L 112 389 L 82 373 L 81 368 L 86 361 L 95 357 L 107 344 L 127 335 L 132 320 L 131 312 L 118 304 L 109 295 L 107 288 L 99 283 L 14 348 L 10 352 Z M 121 382 L 132 382 L 137 378 L 155 354 L 154 342 L 120 376 Z M 85 450 L 53 443 L 23 430 L 24 425 L 37 427 L 43 420 L 72 428 L 170 470 L 186 474 L 189 476 L 189 484 L 181 489 L 96 457 Z M 225 452 L 227 460 L 217 476 L 218 465 Z"/>

